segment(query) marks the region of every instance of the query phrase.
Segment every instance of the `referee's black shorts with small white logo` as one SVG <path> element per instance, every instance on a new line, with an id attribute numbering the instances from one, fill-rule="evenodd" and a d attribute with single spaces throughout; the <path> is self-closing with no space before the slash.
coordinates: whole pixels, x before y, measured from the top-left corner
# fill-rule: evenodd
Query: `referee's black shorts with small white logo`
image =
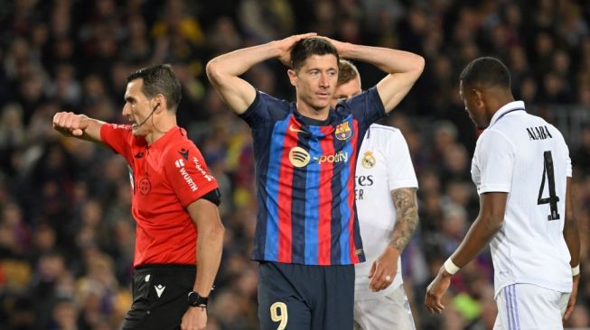
<path id="1" fill-rule="evenodd" d="M 192 265 L 150 264 L 133 273 L 133 304 L 125 316 L 123 330 L 180 329 L 188 309 L 196 268 Z"/>

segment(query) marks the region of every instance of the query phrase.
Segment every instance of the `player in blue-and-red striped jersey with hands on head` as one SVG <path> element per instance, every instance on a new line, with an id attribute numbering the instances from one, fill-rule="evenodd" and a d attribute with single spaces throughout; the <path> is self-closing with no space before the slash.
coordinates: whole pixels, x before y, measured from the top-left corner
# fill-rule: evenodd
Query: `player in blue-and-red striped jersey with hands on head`
<path id="1" fill-rule="evenodd" d="M 387 75 L 331 111 L 340 56 L 370 62 Z M 295 103 L 239 78 L 271 58 L 290 66 Z M 261 329 L 352 328 L 353 264 L 364 261 L 354 207 L 358 151 L 369 125 L 398 105 L 423 68 L 416 54 L 314 33 L 235 50 L 208 63 L 211 83 L 252 129 Z"/>

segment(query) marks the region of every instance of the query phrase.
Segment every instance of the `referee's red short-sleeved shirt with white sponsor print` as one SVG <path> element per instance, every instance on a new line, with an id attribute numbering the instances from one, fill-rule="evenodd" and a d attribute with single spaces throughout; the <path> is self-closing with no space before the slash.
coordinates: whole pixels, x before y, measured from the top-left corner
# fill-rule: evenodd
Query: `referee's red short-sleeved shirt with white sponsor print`
<path id="1" fill-rule="evenodd" d="M 134 267 L 196 264 L 197 230 L 186 206 L 218 186 L 186 131 L 174 127 L 148 146 L 130 125 L 103 124 L 100 138 L 129 165 L 137 223 Z"/>

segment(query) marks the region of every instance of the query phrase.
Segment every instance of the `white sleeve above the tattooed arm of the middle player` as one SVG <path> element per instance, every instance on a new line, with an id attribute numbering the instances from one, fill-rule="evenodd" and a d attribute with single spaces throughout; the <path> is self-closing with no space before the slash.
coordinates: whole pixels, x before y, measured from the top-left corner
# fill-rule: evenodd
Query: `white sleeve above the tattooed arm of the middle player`
<path id="1" fill-rule="evenodd" d="M 416 172 L 409 155 L 406 139 L 399 131 L 383 131 L 388 134 L 385 143 L 385 158 L 388 162 L 389 190 L 397 188 L 418 188 Z"/>

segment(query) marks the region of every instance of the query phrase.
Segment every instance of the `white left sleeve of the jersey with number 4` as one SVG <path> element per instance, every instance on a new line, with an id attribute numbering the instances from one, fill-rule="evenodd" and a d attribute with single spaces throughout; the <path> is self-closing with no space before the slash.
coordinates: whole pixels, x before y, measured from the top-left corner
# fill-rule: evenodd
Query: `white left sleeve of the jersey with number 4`
<path id="1" fill-rule="evenodd" d="M 516 148 L 498 131 L 483 133 L 480 139 L 482 141 L 477 158 L 481 184 L 478 193 L 510 192 Z"/>

